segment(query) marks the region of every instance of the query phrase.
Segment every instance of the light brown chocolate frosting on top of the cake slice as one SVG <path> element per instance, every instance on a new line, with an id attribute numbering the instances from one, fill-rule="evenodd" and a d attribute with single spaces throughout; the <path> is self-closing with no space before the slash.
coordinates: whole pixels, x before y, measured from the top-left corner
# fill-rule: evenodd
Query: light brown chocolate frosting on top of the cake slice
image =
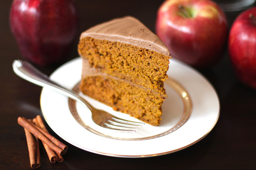
<path id="1" fill-rule="evenodd" d="M 86 36 L 131 44 L 170 56 L 170 51 L 162 40 L 139 20 L 131 16 L 116 18 L 89 28 L 81 34 L 80 39 Z"/>

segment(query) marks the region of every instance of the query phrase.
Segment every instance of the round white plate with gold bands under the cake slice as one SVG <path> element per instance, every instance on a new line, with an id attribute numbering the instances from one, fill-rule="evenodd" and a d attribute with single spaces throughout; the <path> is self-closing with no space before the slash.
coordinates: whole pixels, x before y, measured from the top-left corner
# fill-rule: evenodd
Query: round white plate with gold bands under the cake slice
<path id="1" fill-rule="evenodd" d="M 80 81 L 81 68 L 82 60 L 75 58 L 50 77 L 71 89 Z M 87 108 L 79 103 L 72 105 L 68 97 L 49 88 L 42 89 L 42 113 L 56 134 L 89 152 L 116 157 L 147 157 L 176 152 L 195 144 L 212 130 L 219 118 L 220 104 L 212 85 L 193 68 L 171 59 L 168 76 L 170 80 L 165 82 L 168 98 L 162 106 L 159 126 L 146 124 L 135 133 L 107 130 L 92 122 Z M 115 116 L 138 121 L 88 96 L 84 98 Z"/>

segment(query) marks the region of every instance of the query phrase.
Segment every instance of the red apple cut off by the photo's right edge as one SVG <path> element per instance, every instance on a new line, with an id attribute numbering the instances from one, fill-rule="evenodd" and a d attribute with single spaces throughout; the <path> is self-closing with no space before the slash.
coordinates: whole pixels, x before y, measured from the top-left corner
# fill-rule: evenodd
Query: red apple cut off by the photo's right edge
<path id="1" fill-rule="evenodd" d="M 232 24 L 228 52 L 238 78 L 256 89 L 256 7 L 239 14 Z"/>

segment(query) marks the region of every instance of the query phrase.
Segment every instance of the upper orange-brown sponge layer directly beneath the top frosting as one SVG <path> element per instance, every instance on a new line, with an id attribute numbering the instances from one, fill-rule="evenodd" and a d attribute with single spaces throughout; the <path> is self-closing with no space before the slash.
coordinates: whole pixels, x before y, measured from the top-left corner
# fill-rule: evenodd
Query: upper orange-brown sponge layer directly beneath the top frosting
<path id="1" fill-rule="evenodd" d="M 90 37 L 81 40 L 79 45 L 83 47 L 80 50 L 83 60 L 88 60 L 90 66 L 100 72 L 165 94 L 163 81 L 168 78 L 169 64 L 166 56 L 145 48 Z"/>

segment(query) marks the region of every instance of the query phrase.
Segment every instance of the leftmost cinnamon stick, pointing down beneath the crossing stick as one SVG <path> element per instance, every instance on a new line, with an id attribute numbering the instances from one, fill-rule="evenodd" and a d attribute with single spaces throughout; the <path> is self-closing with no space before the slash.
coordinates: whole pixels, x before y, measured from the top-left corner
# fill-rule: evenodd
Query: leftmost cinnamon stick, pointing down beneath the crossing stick
<path id="1" fill-rule="evenodd" d="M 24 131 L 26 134 L 26 140 L 28 144 L 30 166 L 32 168 L 38 168 L 41 165 L 38 138 L 34 137 L 26 128 L 24 128 Z"/>

